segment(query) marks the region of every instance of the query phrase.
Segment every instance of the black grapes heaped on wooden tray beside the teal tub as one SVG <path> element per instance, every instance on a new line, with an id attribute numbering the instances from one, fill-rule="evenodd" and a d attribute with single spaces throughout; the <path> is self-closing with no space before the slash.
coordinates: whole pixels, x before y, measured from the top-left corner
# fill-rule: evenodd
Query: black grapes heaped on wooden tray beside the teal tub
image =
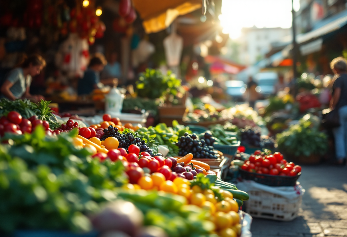
<path id="1" fill-rule="evenodd" d="M 217 159 L 217 151 L 213 149 L 214 139 L 211 139 L 212 135 L 209 133 L 205 133 L 205 135 L 204 138 L 208 139 L 209 144 L 204 139 L 199 140 L 196 134 L 190 135 L 186 132 L 176 144 L 179 147 L 178 155 L 185 156 L 192 153 L 196 158 Z"/>

